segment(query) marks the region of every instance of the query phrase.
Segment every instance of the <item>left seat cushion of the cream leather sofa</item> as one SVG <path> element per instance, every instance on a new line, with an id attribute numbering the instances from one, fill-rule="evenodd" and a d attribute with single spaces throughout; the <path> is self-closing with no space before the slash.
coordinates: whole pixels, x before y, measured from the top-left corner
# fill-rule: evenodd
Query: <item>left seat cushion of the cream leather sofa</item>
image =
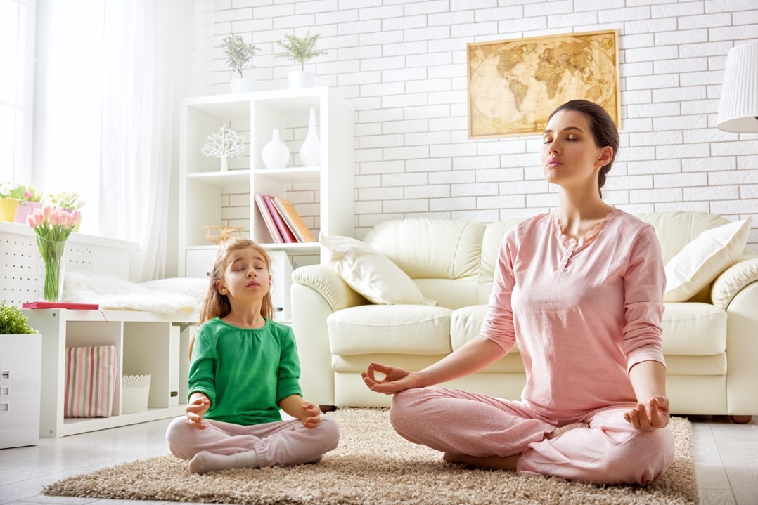
<path id="1" fill-rule="evenodd" d="M 361 305 L 327 317 L 332 354 L 449 354 L 453 310 Z"/>

